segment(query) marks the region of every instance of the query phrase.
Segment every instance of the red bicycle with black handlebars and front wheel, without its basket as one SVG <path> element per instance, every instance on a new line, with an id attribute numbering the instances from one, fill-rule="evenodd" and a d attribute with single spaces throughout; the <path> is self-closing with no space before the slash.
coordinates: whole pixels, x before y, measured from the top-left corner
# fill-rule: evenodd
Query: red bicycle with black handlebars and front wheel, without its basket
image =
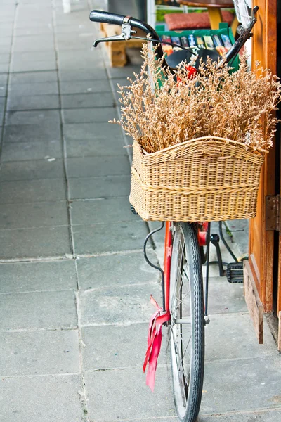
<path id="1" fill-rule="evenodd" d="M 258 7 L 253 9 L 251 20 L 246 27 L 237 28 L 240 36 L 221 63 L 230 63 L 230 60 L 237 56 L 244 43 L 251 37 L 251 30 L 256 23 L 257 10 Z M 122 27 L 121 34 L 96 39 L 93 46 L 106 41 L 143 39 L 157 46 L 158 57 L 164 56 L 161 45 L 163 42 L 178 47 L 177 44 L 161 41 L 157 32 L 150 25 L 129 16 L 91 11 L 90 20 Z M 150 38 L 139 37 L 138 30 L 150 34 Z M 213 60 L 220 57 L 218 53 L 203 51 L 203 49 L 194 51 L 194 49 L 181 47 L 181 51 L 176 51 L 171 56 L 164 58 L 162 63 L 173 71 L 173 68 L 176 68 L 176 65 L 183 60 L 187 60 L 188 63 L 192 54 L 195 53 L 197 65 L 199 64 L 198 58 L 205 58 L 207 54 Z M 164 222 L 159 229 L 150 232 L 144 245 L 145 260 L 155 269 L 159 269 L 162 274 L 163 307 L 161 312 L 155 314 L 150 328 L 153 328 L 153 324 L 157 324 L 157 318 L 158 324 L 166 323 L 169 326 L 176 411 L 182 422 L 195 422 L 200 410 L 204 378 L 204 326 L 209 323 L 207 309 L 211 223 L 166 222 L 164 270 L 148 260 L 145 250 L 150 236 L 163 227 Z M 207 246 L 206 252 L 203 251 L 204 246 Z M 204 260 L 207 262 L 205 289 L 202 276 L 202 261 Z M 151 352 L 149 349 L 152 348 L 153 340 L 154 338 L 151 340 L 148 352 Z M 161 343 L 161 338 L 159 342 Z M 159 344 L 157 347 L 159 348 Z"/>

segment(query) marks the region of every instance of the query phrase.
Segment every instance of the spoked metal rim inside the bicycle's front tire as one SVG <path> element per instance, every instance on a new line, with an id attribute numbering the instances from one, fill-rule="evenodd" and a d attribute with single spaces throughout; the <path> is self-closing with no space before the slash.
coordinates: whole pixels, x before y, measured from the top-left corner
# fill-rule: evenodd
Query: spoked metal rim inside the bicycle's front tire
<path id="1" fill-rule="evenodd" d="M 190 267 L 188 265 L 183 231 L 176 230 L 176 276 L 171 285 L 171 364 L 174 395 L 178 416 L 184 418 L 188 407 L 192 377 L 192 302 Z M 191 381 L 190 381 L 191 380 Z"/>

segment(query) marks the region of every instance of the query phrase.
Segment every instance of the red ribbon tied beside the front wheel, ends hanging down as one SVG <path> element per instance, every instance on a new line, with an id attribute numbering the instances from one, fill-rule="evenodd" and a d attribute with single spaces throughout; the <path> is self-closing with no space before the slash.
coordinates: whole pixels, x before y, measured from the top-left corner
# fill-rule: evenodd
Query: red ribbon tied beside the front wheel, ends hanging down
<path id="1" fill-rule="evenodd" d="M 162 324 L 169 321 L 171 316 L 169 311 L 166 311 L 165 314 L 161 314 L 163 309 L 162 307 L 159 307 L 152 295 L 150 295 L 150 302 L 157 308 L 157 311 L 152 315 L 148 327 L 148 349 L 146 350 L 145 362 L 143 363 L 143 372 L 145 372 L 146 366 L 149 364 L 148 372 L 146 374 L 146 385 L 153 391 L 157 360 L 162 343 Z"/>

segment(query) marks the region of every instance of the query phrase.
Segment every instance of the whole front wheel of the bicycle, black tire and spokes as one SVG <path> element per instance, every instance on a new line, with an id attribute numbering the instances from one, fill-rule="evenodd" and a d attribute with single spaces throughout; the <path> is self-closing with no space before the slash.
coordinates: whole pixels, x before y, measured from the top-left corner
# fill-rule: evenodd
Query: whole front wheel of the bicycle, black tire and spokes
<path id="1" fill-rule="evenodd" d="M 174 227 L 170 281 L 170 344 L 178 418 L 195 422 L 204 378 L 204 299 L 197 226 Z M 181 321 L 176 321 L 180 319 Z M 190 324 L 187 324 L 190 321 Z"/>

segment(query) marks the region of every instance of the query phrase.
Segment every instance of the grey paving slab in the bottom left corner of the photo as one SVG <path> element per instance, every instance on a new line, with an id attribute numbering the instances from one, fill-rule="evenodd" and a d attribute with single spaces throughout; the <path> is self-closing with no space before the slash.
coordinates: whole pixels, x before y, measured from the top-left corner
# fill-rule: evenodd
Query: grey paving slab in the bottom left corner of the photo
<path id="1" fill-rule="evenodd" d="M 80 378 L 78 375 L 4 378 L 1 417 L 13 422 L 81 422 Z"/>

